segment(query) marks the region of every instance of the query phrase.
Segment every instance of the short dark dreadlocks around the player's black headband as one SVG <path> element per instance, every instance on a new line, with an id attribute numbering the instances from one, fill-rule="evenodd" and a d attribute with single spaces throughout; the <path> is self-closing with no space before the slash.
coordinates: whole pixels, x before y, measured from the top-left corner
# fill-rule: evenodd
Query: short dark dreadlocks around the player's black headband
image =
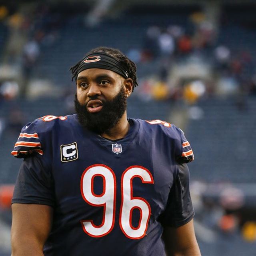
<path id="1" fill-rule="evenodd" d="M 136 64 L 133 61 L 131 61 L 130 59 L 128 59 L 126 57 L 126 55 L 124 55 L 120 50 L 100 46 L 100 47 L 97 47 L 97 48 L 94 48 L 94 49 L 90 50 L 90 52 L 87 52 L 85 54 L 85 56 L 87 56 L 88 54 L 94 53 L 94 52 L 105 52 L 105 53 L 113 56 L 117 60 L 119 60 L 121 62 L 121 64 L 128 70 L 128 77 L 131 78 L 132 81 L 133 81 L 132 91 L 134 90 L 134 88 L 136 86 L 138 86 L 137 75 L 136 75 Z M 85 56 L 84 56 L 84 58 L 85 58 Z M 84 58 L 82 58 L 82 60 L 84 60 Z M 74 65 L 70 68 L 70 71 L 73 75 L 72 76 L 72 81 L 78 75 L 77 74 L 78 66 L 80 65 L 82 60 L 80 60 L 79 62 L 76 63 L 76 65 Z"/>

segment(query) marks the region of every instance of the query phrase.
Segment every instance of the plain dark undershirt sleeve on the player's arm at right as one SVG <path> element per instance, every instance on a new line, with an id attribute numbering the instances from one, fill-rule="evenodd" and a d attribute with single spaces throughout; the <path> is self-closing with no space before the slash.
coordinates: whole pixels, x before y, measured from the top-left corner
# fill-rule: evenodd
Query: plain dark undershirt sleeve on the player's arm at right
<path id="1" fill-rule="evenodd" d="M 189 170 L 180 164 L 178 174 L 170 190 L 164 214 L 160 216 L 163 226 L 179 227 L 194 217 L 194 208 L 189 191 Z"/>

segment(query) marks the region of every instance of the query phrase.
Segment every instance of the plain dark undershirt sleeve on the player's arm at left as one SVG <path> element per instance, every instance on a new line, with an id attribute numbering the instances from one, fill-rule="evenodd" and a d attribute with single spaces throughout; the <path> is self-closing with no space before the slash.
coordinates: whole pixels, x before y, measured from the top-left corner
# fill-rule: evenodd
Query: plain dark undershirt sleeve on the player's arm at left
<path id="1" fill-rule="evenodd" d="M 52 173 L 39 154 L 23 160 L 14 187 L 12 203 L 46 204 L 54 207 Z"/>

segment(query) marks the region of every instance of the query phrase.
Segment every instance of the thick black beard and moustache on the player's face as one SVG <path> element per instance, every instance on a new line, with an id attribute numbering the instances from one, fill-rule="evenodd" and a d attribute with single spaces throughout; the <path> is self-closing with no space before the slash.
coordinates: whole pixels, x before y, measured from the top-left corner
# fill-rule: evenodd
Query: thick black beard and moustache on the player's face
<path id="1" fill-rule="evenodd" d="M 96 100 L 98 97 L 92 97 Z M 116 126 L 120 118 L 126 111 L 126 95 L 124 88 L 111 101 L 104 101 L 103 108 L 100 112 L 90 113 L 85 105 L 78 102 L 77 94 L 75 94 L 75 109 L 78 121 L 82 126 L 97 134 L 108 133 L 108 131 Z"/>

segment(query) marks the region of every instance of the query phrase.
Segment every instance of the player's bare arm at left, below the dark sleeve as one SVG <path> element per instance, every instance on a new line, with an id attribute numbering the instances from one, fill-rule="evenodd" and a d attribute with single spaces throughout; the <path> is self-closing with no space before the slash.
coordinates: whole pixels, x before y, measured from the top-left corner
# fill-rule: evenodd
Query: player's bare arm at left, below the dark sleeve
<path id="1" fill-rule="evenodd" d="M 43 256 L 52 227 L 52 207 L 12 204 L 12 256 Z"/>

